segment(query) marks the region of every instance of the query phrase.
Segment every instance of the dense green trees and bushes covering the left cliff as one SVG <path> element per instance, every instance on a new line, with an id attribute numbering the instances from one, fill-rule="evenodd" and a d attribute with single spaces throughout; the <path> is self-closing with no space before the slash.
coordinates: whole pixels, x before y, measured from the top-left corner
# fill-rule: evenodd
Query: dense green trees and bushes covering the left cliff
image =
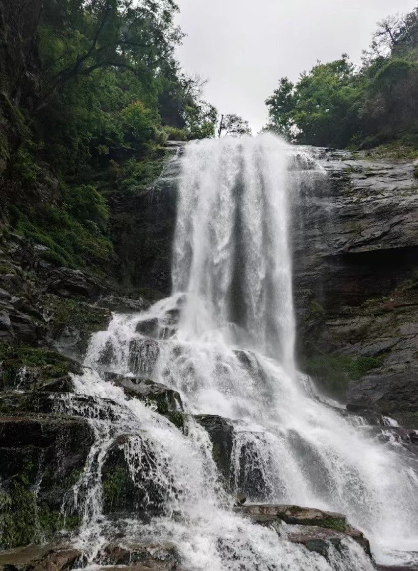
<path id="1" fill-rule="evenodd" d="M 109 195 L 161 172 L 167 139 L 213 136 L 217 111 L 174 49 L 173 0 L 0 2 L 3 223 L 57 266 L 115 272 Z"/>

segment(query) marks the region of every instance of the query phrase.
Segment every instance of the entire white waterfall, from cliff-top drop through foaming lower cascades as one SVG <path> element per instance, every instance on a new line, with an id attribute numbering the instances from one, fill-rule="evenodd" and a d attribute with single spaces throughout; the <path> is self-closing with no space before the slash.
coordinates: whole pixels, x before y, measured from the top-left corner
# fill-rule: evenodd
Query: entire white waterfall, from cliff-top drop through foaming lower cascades
<path id="1" fill-rule="evenodd" d="M 347 514 L 379 561 L 407 561 L 403 552 L 418 550 L 413 458 L 321 399 L 295 369 L 289 213 L 301 187 L 323 173 L 271 135 L 190 143 L 181 163 L 172 296 L 114 315 L 92 337 L 77 394 L 60 403 L 89 416 L 96 435 L 72 500 L 83 509 L 79 546 L 93 562 L 109 538 L 170 542 L 190 571 L 373 568 L 354 541 L 342 553 L 330 548 L 326 560 L 251 523 L 231 508 L 244 492 L 248 502 Z M 104 370 L 176 389 L 182 429 L 128 399 Z M 226 486 L 194 420 L 201 414 L 233 425 Z M 148 502 L 142 519 L 103 514 L 101 470 L 115 442 L 145 511 Z"/>

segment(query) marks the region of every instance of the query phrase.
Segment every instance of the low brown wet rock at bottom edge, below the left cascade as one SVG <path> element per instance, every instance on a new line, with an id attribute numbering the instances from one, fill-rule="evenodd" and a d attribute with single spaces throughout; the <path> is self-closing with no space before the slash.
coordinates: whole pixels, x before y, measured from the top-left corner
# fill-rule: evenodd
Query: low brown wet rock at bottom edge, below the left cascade
<path id="1" fill-rule="evenodd" d="M 174 571 L 178 569 L 180 557 L 171 545 L 128 545 L 108 544 L 100 551 L 101 565 L 129 565 L 137 571 Z M 136 565 L 136 564 L 139 564 Z"/>

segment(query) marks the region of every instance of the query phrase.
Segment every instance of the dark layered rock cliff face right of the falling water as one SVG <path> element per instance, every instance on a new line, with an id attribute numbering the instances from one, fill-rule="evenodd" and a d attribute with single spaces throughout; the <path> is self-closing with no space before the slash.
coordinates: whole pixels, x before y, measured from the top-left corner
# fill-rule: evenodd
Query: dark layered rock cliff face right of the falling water
<path id="1" fill-rule="evenodd" d="M 296 201 L 299 357 L 352 407 L 416 423 L 416 164 L 310 152 L 323 175 Z"/>

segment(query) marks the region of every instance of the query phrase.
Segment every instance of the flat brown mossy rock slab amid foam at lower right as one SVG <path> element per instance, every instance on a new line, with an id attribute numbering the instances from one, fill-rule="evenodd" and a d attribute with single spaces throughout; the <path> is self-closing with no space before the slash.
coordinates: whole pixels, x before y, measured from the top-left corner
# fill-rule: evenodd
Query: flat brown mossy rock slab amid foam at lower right
<path id="1" fill-rule="evenodd" d="M 316 508 L 301 508 L 296 505 L 253 504 L 242 505 L 235 509 L 261 525 L 270 525 L 274 524 L 274 522 L 284 521 L 290 525 L 309 526 L 306 534 L 301 529 L 295 532 L 295 542 L 303 543 L 305 540 L 306 542 L 317 541 L 319 542 L 318 545 L 323 545 L 323 542 L 327 541 L 327 537 L 335 537 L 336 542 L 340 542 L 343 537 L 351 537 L 370 554 L 370 545 L 367 539 L 362 532 L 347 524 L 346 516 L 343 514 L 325 512 Z M 325 530 L 329 530 L 329 532 Z M 314 543 L 311 543 L 311 545 L 314 545 Z"/>

